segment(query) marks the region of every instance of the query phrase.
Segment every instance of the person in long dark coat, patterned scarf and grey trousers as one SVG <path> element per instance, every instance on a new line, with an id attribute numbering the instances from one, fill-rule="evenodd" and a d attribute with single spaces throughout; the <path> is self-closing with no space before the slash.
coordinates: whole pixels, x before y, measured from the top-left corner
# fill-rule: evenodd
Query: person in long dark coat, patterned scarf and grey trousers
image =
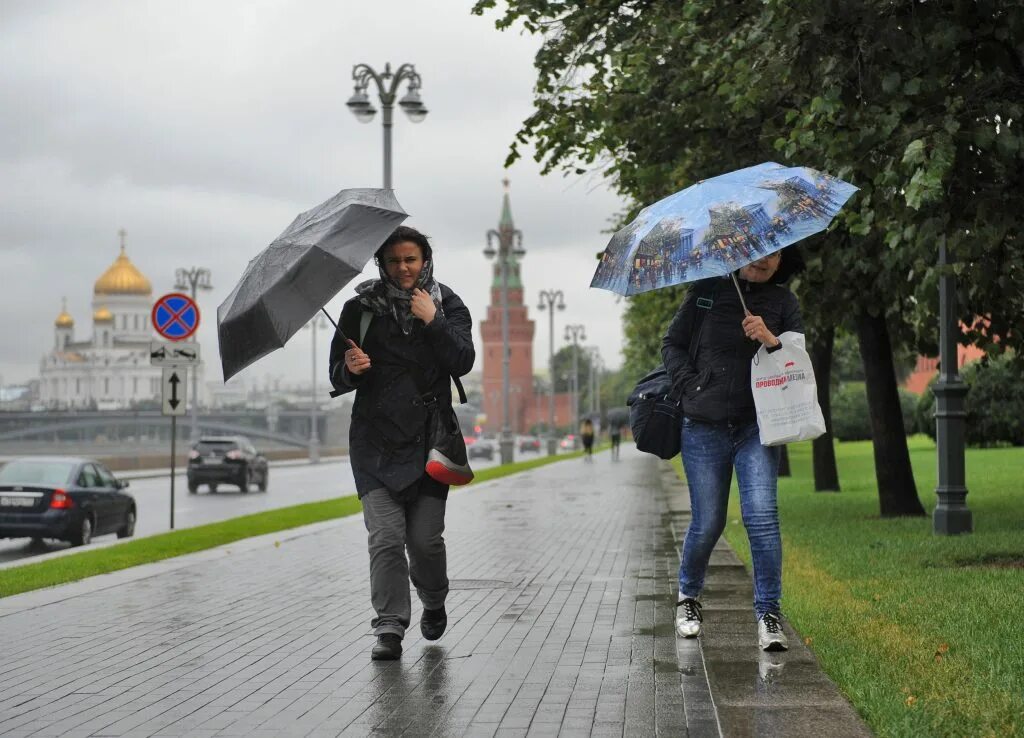
<path id="1" fill-rule="evenodd" d="M 425 473 L 426 425 L 434 407 L 451 408 L 451 377 L 467 374 L 475 354 L 469 310 L 434 280 L 425 235 L 401 226 L 375 258 L 380 278 L 345 303 L 339 322 L 349 340 L 335 335 L 330 367 L 336 389 L 355 391 L 349 455 L 369 533 L 372 658 L 389 660 L 401 655 L 412 617 L 410 578 L 423 637 L 435 641 L 447 626 L 449 488 Z"/>

